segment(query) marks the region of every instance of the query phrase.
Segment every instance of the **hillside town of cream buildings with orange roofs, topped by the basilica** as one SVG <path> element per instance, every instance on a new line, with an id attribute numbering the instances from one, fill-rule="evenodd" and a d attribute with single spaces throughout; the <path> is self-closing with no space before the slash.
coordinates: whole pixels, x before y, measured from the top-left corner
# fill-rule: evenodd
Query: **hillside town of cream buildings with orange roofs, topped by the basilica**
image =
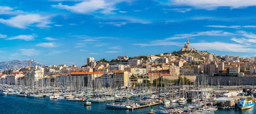
<path id="1" fill-rule="evenodd" d="M 175 51 L 176 52 L 176 51 Z M 189 48 L 189 39 L 179 53 L 201 53 L 195 48 Z M 103 81 L 109 86 L 113 74 L 118 74 L 115 81 L 120 86 L 130 86 L 132 83 L 141 83 L 143 76 L 224 76 L 224 77 L 256 77 L 256 57 L 242 58 L 239 56 L 219 55 L 203 52 L 204 60 L 200 57 L 186 56 L 177 53 L 165 53 L 148 56 L 128 57 L 120 55 L 108 61 L 96 61 L 88 57 L 85 66 L 76 65 L 49 65 L 29 66 L 25 68 L 9 69 L 0 72 L 0 83 L 9 85 L 32 85 L 33 83 L 47 83 L 53 85 L 67 85 L 71 82 L 81 81 L 83 86 L 90 87 L 93 80 Z M 201 57 L 202 58 L 202 57 Z M 151 81 L 151 80 L 149 80 Z M 77 83 L 76 83 L 77 84 Z"/>

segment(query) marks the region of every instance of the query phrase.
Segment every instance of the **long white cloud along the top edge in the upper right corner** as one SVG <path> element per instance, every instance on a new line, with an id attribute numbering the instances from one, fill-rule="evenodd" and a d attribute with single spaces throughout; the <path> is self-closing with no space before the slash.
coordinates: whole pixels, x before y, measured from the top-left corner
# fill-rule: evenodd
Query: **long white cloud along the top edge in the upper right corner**
<path id="1" fill-rule="evenodd" d="M 218 7 L 229 7 L 230 9 L 256 6 L 255 0 L 174 0 L 171 3 L 177 6 L 192 6 L 198 9 L 212 10 Z"/>

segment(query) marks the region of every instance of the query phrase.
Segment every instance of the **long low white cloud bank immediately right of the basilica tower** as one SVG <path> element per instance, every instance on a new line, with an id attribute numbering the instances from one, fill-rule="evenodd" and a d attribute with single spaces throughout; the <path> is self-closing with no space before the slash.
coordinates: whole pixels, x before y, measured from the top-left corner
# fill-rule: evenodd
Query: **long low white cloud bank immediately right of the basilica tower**
<path id="1" fill-rule="evenodd" d="M 222 43 L 222 42 L 212 42 L 212 43 L 190 43 L 191 48 L 196 50 L 216 50 L 216 51 L 229 51 L 229 52 L 256 52 L 251 46 L 244 46 L 235 43 Z"/>

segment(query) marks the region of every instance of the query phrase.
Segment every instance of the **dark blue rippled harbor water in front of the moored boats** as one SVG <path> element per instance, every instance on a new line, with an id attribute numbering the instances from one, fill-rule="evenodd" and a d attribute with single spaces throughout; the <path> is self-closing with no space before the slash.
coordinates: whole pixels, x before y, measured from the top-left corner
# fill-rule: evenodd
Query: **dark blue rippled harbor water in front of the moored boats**
<path id="1" fill-rule="evenodd" d="M 149 107 L 130 111 L 106 108 L 105 103 L 92 103 L 91 106 L 86 107 L 84 102 L 53 100 L 49 97 L 17 97 L 16 95 L 0 96 L 0 104 L 1 114 L 147 114 L 150 112 Z M 158 105 L 154 106 L 154 110 L 158 110 Z M 256 114 L 256 107 L 244 111 L 218 109 L 215 114 Z"/>

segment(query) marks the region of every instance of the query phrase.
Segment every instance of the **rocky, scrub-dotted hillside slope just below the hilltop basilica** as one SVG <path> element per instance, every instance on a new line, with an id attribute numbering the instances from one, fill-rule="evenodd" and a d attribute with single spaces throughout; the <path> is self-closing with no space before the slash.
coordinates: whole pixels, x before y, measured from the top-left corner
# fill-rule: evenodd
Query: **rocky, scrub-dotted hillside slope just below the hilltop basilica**
<path id="1" fill-rule="evenodd" d="M 192 56 L 194 60 L 206 60 L 208 53 L 209 52 L 207 51 L 174 51 L 172 52 L 172 54 L 179 57 Z M 212 53 L 209 53 L 209 54 L 212 54 Z M 221 59 L 218 58 L 216 54 L 212 54 L 212 55 L 213 55 L 213 60 L 221 61 Z"/>

